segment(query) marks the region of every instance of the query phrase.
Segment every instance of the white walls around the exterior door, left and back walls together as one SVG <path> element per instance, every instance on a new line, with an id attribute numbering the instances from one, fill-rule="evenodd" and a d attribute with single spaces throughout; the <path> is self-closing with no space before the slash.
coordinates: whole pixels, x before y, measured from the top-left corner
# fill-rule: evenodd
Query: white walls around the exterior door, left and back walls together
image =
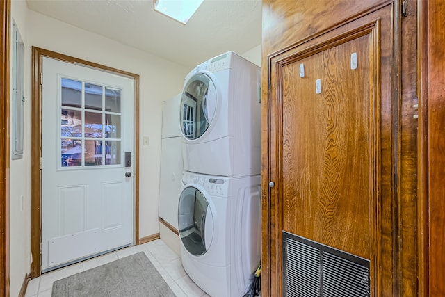
<path id="1" fill-rule="evenodd" d="M 31 270 L 31 46 L 139 74 L 140 238 L 159 232 L 162 103 L 181 92 L 189 69 L 35 13 L 26 8 L 24 0 L 12 1 L 11 10 L 25 43 L 27 74 L 24 159 L 10 163 L 10 296 L 17 296 Z M 149 136 L 148 146 L 142 145 L 143 136 Z"/>

